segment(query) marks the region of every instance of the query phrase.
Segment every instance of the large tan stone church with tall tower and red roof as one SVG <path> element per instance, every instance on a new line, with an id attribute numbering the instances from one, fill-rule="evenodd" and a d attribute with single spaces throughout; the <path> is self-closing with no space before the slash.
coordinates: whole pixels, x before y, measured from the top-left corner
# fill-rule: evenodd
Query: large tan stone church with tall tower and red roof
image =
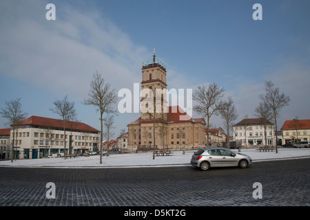
<path id="1" fill-rule="evenodd" d="M 165 92 L 156 94 L 167 91 L 167 72 L 155 58 L 154 51 L 153 62 L 142 66 L 141 117 L 127 124 L 127 151 L 149 151 L 154 146 L 157 150 L 205 146 L 205 120 L 190 117 L 179 106 L 168 107 Z"/>

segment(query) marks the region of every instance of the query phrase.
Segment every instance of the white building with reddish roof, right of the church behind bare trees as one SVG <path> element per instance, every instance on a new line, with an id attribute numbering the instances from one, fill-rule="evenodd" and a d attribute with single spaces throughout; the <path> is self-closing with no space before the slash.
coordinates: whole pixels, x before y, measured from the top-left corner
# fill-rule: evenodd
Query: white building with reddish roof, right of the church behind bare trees
<path id="1" fill-rule="evenodd" d="M 266 133 L 265 133 L 266 128 Z M 261 118 L 245 118 L 233 126 L 234 141 L 241 141 L 242 146 L 272 146 L 275 138 L 274 126 Z M 265 138 L 266 137 L 266 138 Z"/>

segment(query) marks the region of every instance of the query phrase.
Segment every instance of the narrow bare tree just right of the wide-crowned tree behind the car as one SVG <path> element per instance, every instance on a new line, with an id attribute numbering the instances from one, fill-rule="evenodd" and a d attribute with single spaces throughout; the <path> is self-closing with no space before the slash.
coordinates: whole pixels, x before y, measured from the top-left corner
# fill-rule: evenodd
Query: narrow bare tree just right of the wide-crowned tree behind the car
<path id="1" fill-rule="evenodd" d="M 229 145 L 229 128 L 232 126 L 234 120 L 238 118 L 237 110 L 234 105 L 234 100 L 232 100 L 231 96 L 228 97 L 228 100 L 223 102 L 223 107 L 220 109 L 220 116 L 224 120 L 225 127 L 227 129 L 227 147 L 230 148 Z"/>

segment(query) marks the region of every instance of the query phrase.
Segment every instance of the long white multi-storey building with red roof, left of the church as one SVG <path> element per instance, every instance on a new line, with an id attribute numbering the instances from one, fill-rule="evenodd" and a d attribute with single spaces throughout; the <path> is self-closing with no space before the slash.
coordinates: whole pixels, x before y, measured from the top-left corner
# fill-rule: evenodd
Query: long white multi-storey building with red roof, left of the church
<path id="1" fill-rule="evenodd" d="M 38 159 L 64 153 L 65 149 L 66 154 L 84 153 L 86 150 L 96 151 L 99 134 L 99 130 L 87 124 L 65 122 L 64 136 L 63 120 L 31 116 L 15 126 L 13 155 L 15 157 L 16 151 L 17 158 Z M 12 135 L 11 129 L 11 140 Z"/>

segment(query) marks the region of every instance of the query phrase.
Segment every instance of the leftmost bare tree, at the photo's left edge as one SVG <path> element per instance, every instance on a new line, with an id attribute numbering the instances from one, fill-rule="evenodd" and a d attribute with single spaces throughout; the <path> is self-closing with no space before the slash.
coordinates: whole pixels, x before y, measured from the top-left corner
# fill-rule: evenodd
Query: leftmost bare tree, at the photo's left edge
<path id="1" fill-rule="evenodd" d="M 6 124 L 12 126 L 13 128 L 12 155 L 11 155 L 11 162 L 13 162 L 15 128 L 16 126 L 18 126 L 19 122 L 21 122 L 27 117 L 27 113 L 21 110 L 21 98 L 6 101 L 5 105 L 6 107 L 1 109 L 0 114 L 2 115 L 3 118 L 6 118 L 8 120 Z M 15 159 L 16 155 L 17 153 L 15 151 Z"/>

